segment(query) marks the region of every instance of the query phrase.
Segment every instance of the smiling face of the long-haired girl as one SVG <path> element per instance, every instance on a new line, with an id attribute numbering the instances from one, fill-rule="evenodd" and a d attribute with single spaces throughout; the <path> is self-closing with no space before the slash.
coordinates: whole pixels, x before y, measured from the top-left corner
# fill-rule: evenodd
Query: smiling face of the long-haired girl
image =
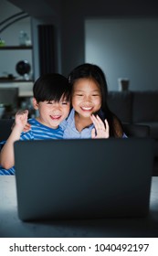
<path id="1" fill-rule="evenodd" d="M 101 107 L 101 92 L 98 83 L 92 79 L 79 79 L 74 83 L 72 106 L 80 117 L 90 118 Z"/>

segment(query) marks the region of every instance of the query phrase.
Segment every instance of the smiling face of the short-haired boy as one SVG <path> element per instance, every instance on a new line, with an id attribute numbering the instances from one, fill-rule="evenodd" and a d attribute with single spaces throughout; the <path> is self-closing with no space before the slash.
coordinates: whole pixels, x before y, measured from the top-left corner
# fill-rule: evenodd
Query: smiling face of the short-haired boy
<path id="1" fill-rule="evenodd" d="M 38 110 L 37 121 L 50 128 L 57 129 L 59 123 L 68 117 L 70 102 L 61 97 L 60 101 L 40 101 L 33 99 L 34 108 Z"/>

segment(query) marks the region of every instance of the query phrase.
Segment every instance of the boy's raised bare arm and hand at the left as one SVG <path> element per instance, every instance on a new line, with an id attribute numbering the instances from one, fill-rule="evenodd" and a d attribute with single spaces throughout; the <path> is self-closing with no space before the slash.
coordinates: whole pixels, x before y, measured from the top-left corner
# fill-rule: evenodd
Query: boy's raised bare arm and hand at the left
<path id="1" fill-rule="evenodd" d="M 28 111 L 17 112 L 16 113 L 16 123 L 12 129 L 12 133 L 8 137 L 5 145 L 1 150 L 1 165 L 5 169 L 9 169 L 15 165 L 15 155 L 14 155 L 14 143 L 20 139 L 20 135 L 27 123 Z"/>

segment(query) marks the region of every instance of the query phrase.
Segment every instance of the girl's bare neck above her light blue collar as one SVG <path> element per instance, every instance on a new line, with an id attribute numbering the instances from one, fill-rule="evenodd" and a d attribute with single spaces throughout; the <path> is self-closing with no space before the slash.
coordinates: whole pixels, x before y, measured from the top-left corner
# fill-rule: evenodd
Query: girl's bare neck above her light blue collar
<path id="1" fill-rule="evenodd" d="M 75 126 L 79 133 L 86 127 L 90 126 L 92 121 L 90 117 L 80 116 L 78 112 L 75 112 Z"/>

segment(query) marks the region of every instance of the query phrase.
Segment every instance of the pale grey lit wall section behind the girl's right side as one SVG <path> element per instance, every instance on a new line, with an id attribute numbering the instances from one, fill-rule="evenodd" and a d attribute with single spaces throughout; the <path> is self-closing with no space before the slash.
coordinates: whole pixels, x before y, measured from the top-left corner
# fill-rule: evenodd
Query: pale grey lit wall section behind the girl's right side
<path id="1" fill-rule="evenodd" d="M 118 78 L 133 91 L 158 89 L 157 18 L 90 19 L 85 27 L 86 61 L 104 70 L 111 91 Z"/>

